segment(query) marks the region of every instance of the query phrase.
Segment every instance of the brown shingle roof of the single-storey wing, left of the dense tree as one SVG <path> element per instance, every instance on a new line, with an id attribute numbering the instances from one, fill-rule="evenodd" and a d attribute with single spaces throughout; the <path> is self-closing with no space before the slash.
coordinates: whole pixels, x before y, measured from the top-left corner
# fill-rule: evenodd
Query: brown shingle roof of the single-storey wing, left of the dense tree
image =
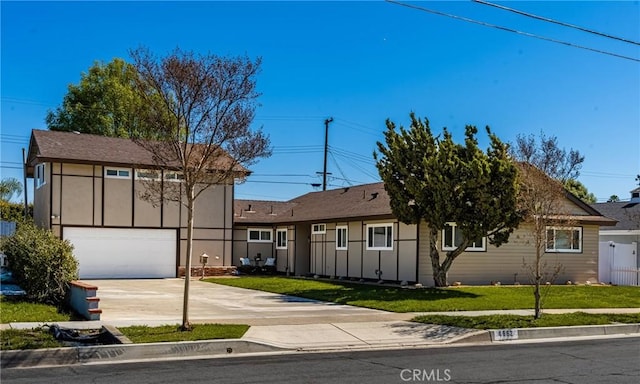
<path id="1" fill-rule="evenodd" d="M 235 200 L 234 212 L 236 224 L 393 217 L 383 183 L 311 192 L 287 202 Z"/>

